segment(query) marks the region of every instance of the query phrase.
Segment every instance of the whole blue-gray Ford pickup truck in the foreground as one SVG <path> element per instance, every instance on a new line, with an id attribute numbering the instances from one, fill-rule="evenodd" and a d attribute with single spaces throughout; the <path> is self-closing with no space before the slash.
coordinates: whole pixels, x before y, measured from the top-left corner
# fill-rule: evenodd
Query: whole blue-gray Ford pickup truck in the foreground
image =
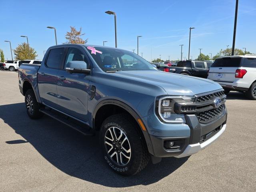
<path id="1" fill-rule="evenodd" d="M 99 131 L 102 158 L 122 175 L 150 159 L 190 156 L 226 128 L 218 83 L 160 71 L 130 51 L 52 46 L 42 64 L 22 64 L 18 76 L 30 118 L 46 114 L 85 135 Z"/>

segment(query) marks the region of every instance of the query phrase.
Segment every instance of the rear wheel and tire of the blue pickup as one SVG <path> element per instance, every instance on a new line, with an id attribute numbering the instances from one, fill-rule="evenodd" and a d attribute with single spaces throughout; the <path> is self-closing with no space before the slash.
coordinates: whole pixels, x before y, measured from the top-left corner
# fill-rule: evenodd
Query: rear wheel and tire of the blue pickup
<path id="1" fill-rule="evenodd" d="M 38 119 L 43 116 L 43 113 L 39 111 L 39 104 L 36 101 L 36 96 L 32 89 L 27 90 L 25 94 L 25 104 L 27 114 L 32 119 Z"/>

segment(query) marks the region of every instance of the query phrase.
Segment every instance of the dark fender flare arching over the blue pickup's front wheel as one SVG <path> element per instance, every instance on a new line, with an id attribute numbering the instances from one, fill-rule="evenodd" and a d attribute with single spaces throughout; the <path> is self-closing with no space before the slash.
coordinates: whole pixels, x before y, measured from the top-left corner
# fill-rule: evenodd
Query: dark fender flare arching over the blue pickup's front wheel
<path id="1" fill-rule="evenodd" d="M 94 124 L 95 124 L 95 122 L 94 122 L 95 121 L 95 116 L 96 116 L 98 110 L 102 106 L 107 105 L 107 104 L 116 105 L 116 106 L 119 106 L 119 107 L 123 108 L 124 110 L 126 110 L 135 119 L 135 121 L 137 122 L 137 124 L 139 126 L 140 126 L 140 124 L 138 123 L 138 119 L 140 119 L 143 122 L 142 118 L 140 118 L 138 113 L 134 109 L 132 109 L 130 106 L 125 104 L 124 102 L 121 102 L 121 101 L 116 100 L 116 99 L 105 99 L 105 100 L 100 101 L 96 105 L 96 107 L 94 108 L 94 112 L 92 114 L 92 127 L 93 128 L 94 128 Z M 143 124 L 144 124 L 144 122 L 143 122 Z M 144 124 L 144 126 L 145 126 L 145 124 Z M 140 126 L 140 130 L 142 131 L 142 134 L 144 135 L 144 138 L 145 138 L 145 141 L 146 141 L 146 145 L 148 147 L 148 151 L 150 152 L 150 154 L 154 154 L 152 141 L 150 139 L 150 136 L 149 136 L 148 132 L 147 131 L 143 131 L 141 126 Z"/>

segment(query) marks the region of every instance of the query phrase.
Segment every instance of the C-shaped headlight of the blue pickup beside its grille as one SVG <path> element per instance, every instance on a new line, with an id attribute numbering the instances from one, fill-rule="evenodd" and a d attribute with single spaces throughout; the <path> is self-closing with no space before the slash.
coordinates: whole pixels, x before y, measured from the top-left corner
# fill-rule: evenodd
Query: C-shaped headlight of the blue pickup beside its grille
<path id="1" fill-rule="evenodd" d="M 162 96 L 156 100 L 156 114 L 163 122 L 186 123 L 184 114 L 176 114 L 175 103 L 193 103 L 195 97 L 192 96 Z"/>

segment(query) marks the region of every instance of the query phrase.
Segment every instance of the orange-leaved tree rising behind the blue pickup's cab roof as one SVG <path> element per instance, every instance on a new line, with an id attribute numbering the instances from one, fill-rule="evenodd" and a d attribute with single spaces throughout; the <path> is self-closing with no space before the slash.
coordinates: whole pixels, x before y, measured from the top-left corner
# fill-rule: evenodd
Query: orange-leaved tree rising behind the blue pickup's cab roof
<path id="1" fill-rule="evenodd" d="M 82 39 L 81 36 L 83 35 L 85 35 L 85 33 L 82 33 L 82 27 L 80 27 L 78 31 L 75 27 L 70 26 L 70 32 L 67 32 L 65 36 L 67 41 L 63 44 L 86 44 L 88 39 Z"/>

